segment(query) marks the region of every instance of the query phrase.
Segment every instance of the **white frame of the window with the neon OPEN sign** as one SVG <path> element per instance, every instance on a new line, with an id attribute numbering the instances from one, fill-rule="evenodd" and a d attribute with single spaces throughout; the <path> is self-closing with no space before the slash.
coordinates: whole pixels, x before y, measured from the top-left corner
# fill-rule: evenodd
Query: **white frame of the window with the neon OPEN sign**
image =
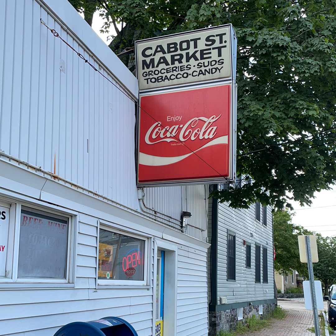
<path id="1" fill-rule="evenodd" d="M 117 227 L 118 226 L 118 227 Z M 144 280 L 112 280 L 112 279 L 98 279 L 98 248 L 97 248 L 97 266 L 96 266 L 96 288 L 111 288 L 110 286 L 149 286 L 149 266 L 150 265 L 150 250 L 149 250 L 149 240 L 151 236 L 139 233 L 136 230 L 134 232 L 129 232 L 121 229 L 119 225 L 114 225 L 114 223 L 100 222 L 98 221 L 98 234 L 97 234 L 97 246 L 99 246 L 99 230 L 106 230 L 113 233 L 117 233 L 123 236 L 133 237 L 145 242 L 144 247 Z"/>

